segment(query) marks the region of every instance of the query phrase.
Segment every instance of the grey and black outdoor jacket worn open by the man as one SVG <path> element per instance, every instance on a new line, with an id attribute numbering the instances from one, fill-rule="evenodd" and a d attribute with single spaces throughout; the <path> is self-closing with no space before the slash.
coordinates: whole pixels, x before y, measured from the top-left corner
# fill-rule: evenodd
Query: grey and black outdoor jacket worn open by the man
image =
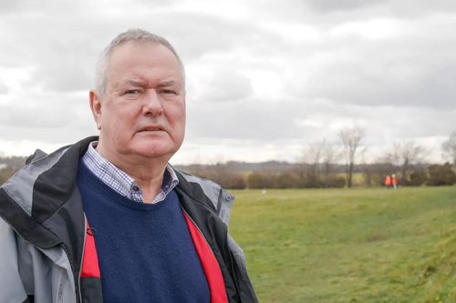
<path id="1" fill-rule="evenodd" d="M 26 167 L 0 187 L 0 303 L 102 301 L 99 279 L 80 278 L 87 233 L 76 185 L 78 159 L 96 139 L 88 137 L 50 155 L 37 150 L 27 159 Z M 220 221 L 210 233 L 202 227 L 202 234 L 216 235 L 208 243 L 218 243 L 214 251 L 221 251 L 215 257 L 223 272 L 228 301 L 258 302 L 243 250 L 224 234 L 233 195 L 199 177 L 181 172 L 178 177 L 176 191 L 182 209 L 190 217 L 202 217 L 199 212 L 206 212 L 204 216 L 213 213 Z M 194 223 L 204 225 L 198 219 Z"/>

